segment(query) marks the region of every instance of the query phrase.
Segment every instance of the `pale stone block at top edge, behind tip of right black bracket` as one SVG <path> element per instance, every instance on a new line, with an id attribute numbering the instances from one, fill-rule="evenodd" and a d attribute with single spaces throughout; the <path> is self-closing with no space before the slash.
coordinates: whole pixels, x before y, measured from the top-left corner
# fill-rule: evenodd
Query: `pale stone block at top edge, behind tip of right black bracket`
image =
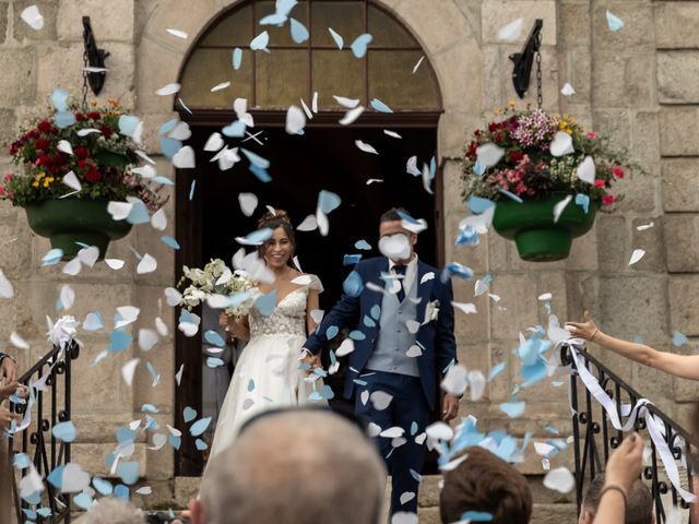
<path id="1" fill-rule="evenodd" d="M 523 28 L 518 44 L 523 44 L 534 26 L 536 19 L 544 21 L 542 29 L 542 43 L 545 46 L 557 44 L 556 2 L 553 0 L 521 0 L 512 2 L 508 0 L 485 0 L 482 4 L 481 16 L 483 20 L 481 39 L 487 44 L 502 44 L 498 39 L 498 29 L 516 19 L 523 19 Z"/>

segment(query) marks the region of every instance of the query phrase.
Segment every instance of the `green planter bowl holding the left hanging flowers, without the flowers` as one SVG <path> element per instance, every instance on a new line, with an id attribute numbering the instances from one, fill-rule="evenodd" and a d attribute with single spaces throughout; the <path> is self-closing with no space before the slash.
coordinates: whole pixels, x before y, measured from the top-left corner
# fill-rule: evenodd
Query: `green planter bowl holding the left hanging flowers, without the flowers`
<path id="1" fill-rule="evenodd" d="M 107 200 L 51 199 L 25 207 L 29 227 L 34 233 L 51 240 L 51 247 L 63 250 L 63 260 L 78 254 L 82 246 L 99 248 L 104 259 L 110 240 L 129 234 L 131 224 L 116 222 L 107 213 Z"/>

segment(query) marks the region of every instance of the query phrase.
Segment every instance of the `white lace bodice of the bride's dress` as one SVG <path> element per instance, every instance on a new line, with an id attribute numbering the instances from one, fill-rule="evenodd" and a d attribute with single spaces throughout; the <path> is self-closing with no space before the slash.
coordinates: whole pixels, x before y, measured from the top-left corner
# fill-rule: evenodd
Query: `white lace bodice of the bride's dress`
<path id="1" fill-rule="evenodd" d="M 257 308 L 252 308 L 248 315 L 250 322 L 250 338 L 261 335 L 295 335 L 306 336 L 306 302 L 308 289 L 322 290 L 320 281 L 315 275 L 308 286 L 294 289 L 277 303 L 272 314 L 263 315 Z M 253 298 L 263 295 L 254 289 Z"/>

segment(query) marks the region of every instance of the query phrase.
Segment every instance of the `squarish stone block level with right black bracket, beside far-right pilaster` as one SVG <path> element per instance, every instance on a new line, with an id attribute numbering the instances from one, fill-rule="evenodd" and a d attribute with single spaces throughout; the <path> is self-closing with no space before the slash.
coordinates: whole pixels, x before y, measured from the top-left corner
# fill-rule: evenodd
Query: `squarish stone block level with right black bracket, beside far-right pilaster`
<path id="1" fill-rule="evenodd" d="M 596 107 L 647 107 L 654 104 L 655 85 L 650 53 L 595 52 L 592 59 L 592 99 Z"/>

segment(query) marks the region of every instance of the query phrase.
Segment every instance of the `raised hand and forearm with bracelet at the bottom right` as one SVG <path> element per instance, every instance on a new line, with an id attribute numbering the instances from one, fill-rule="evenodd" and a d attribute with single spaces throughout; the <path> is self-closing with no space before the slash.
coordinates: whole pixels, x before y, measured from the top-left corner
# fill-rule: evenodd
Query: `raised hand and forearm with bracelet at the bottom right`
<path id="1" fill-rule="evenodd" d="M 625 521 L 629 490 L 642 471 L 643 439 L 633 432 L 626 436 L 607 461 L 604 487 L 593 524 Z"/>

